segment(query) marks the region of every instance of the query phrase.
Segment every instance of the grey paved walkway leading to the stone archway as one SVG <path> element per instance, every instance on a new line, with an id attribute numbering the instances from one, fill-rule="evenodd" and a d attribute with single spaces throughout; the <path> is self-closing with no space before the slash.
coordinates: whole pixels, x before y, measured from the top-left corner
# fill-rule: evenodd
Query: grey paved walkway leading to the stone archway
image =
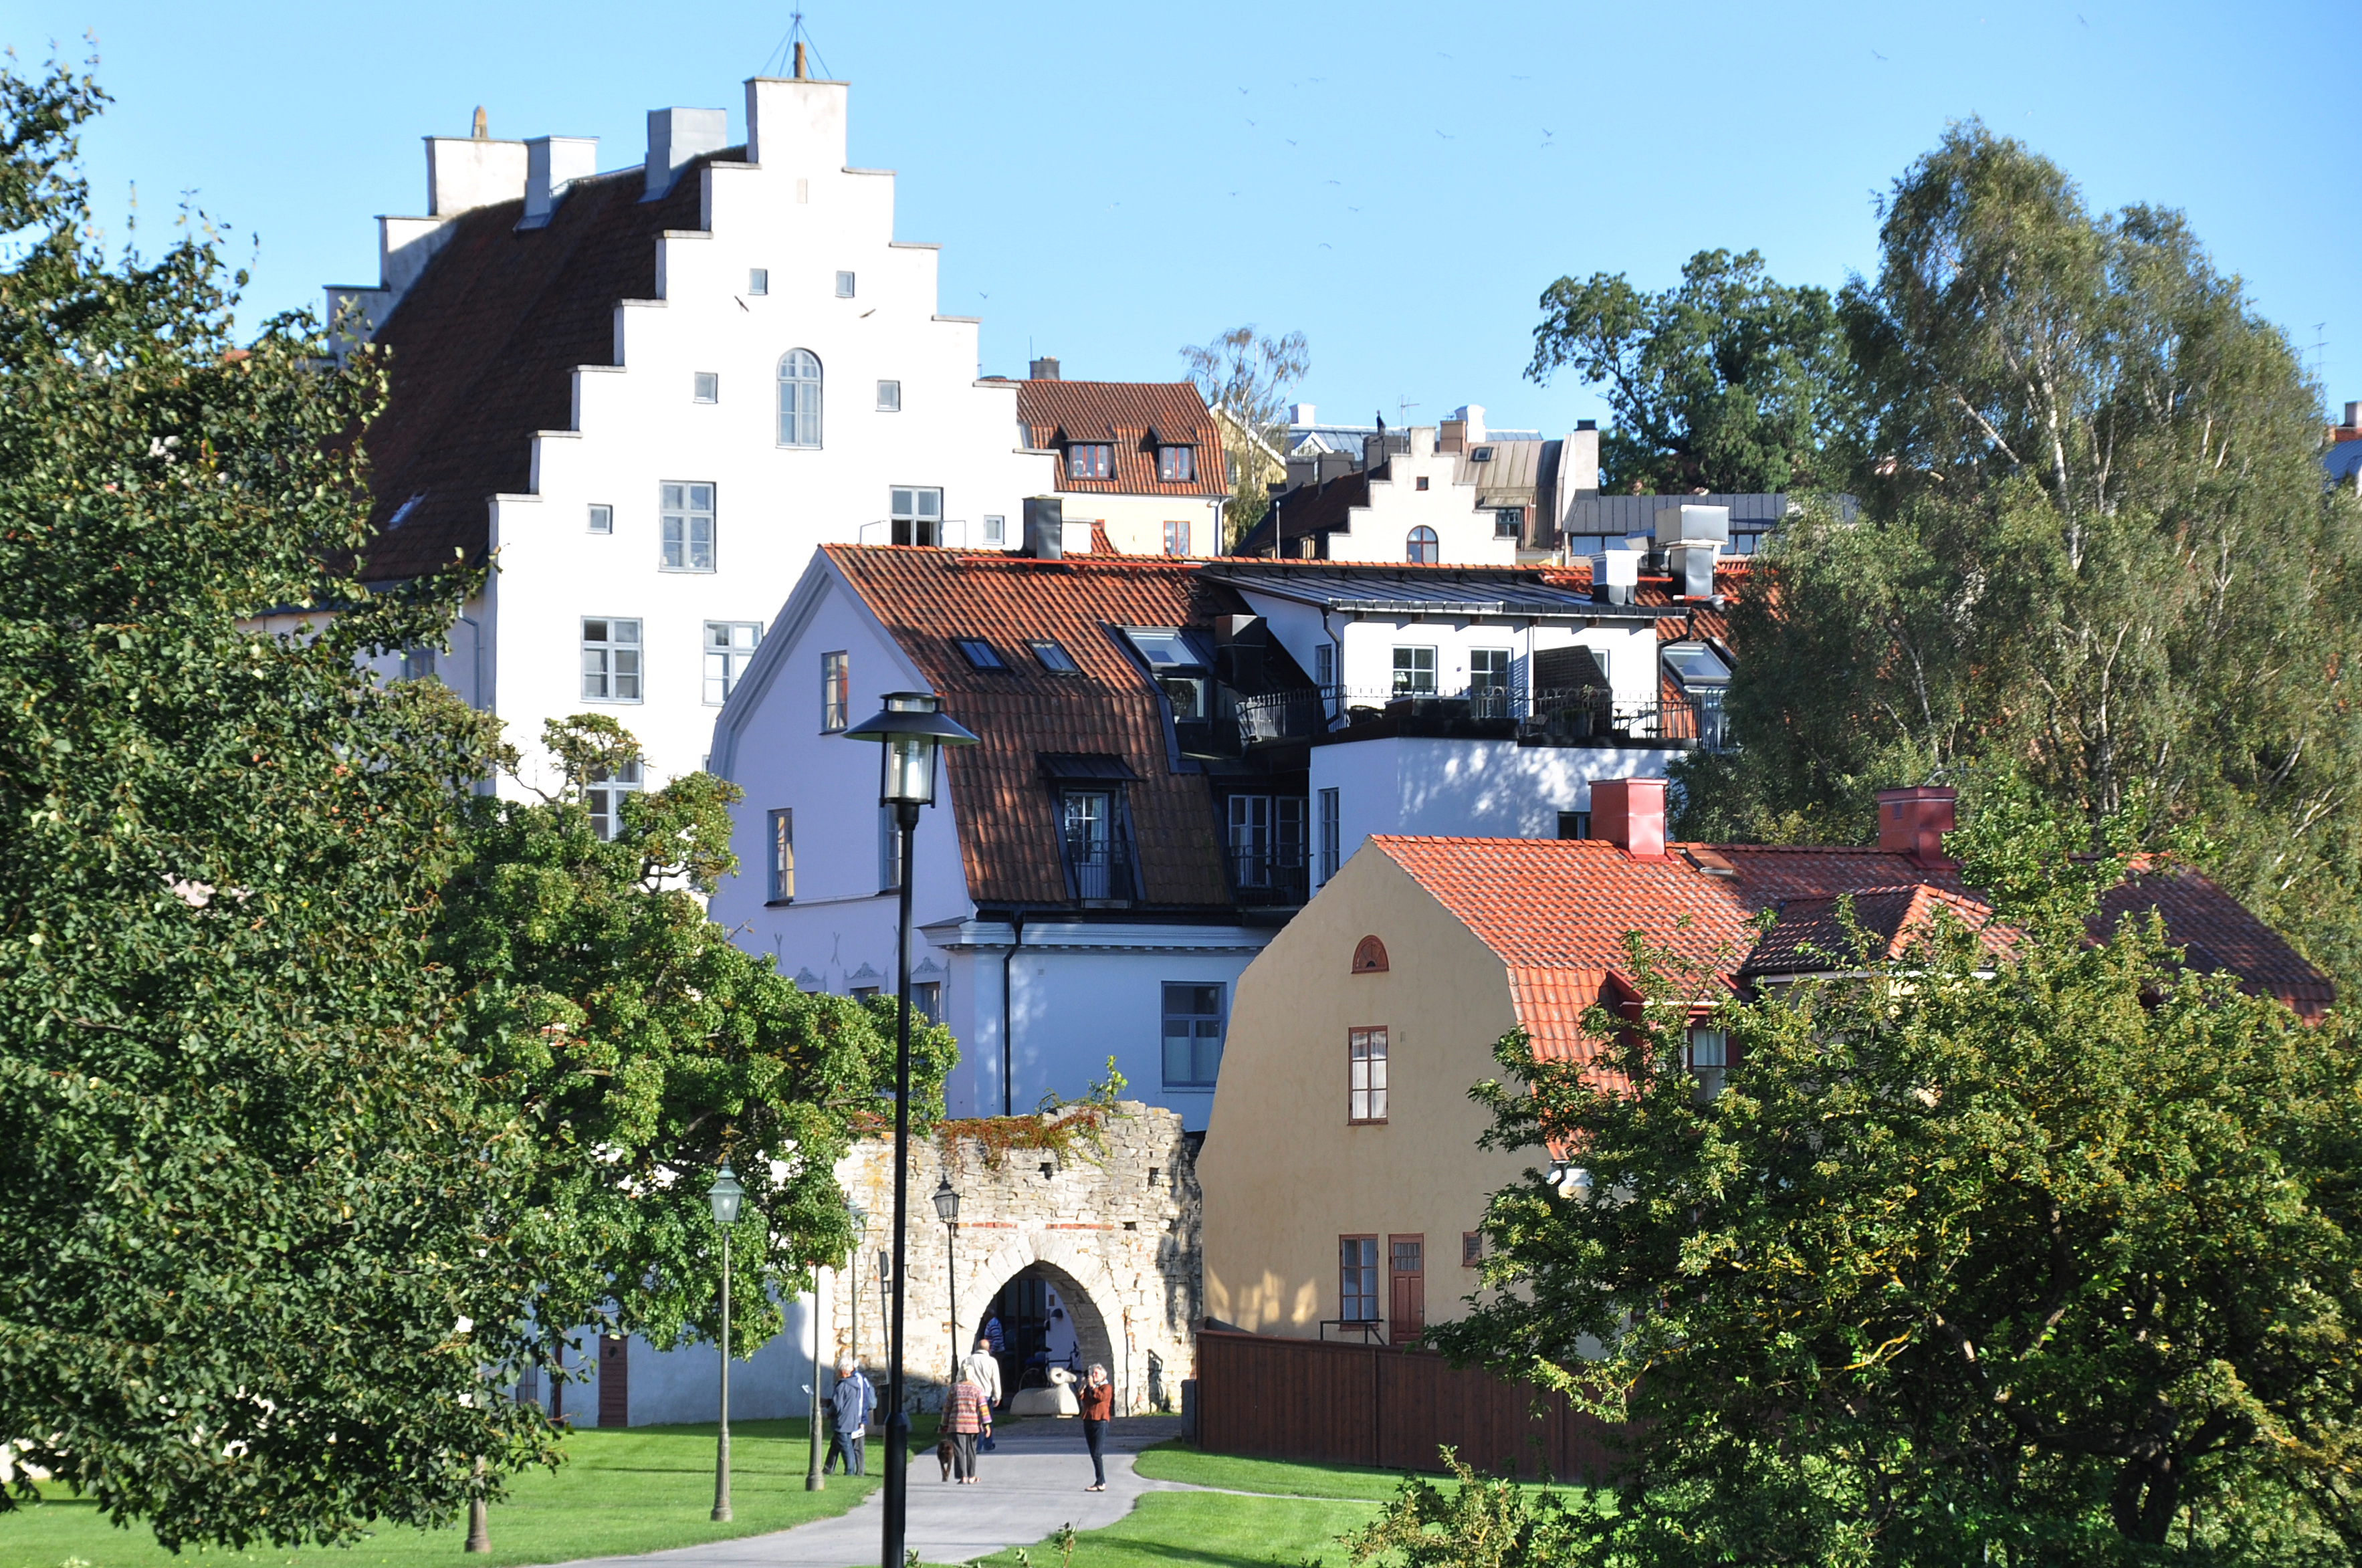
<path id="1" fill-rule="evenodd" d="M 1079 1422 L 1009 1422 L 997 1436 L 999 1452 L 978 1455 L 980 1485 L 942 1481 L 933 1450 L 912 1455 L 905 1544 L 916 1549 L 921 1563 L 966 1563 L 1004 1547 L 1030 1547 L 1063 1523 L 1101 1530 L 1129 1514 L 1141 1492 L 1205 1490 L 1131 1474 L 1131 1455 L 1181 1436 L 1179 1417 L 1115 1422 L 1105 1492 L 1082 1490 L 1091 1483 L 1091 1455 Z M 872 1474 L 883 1462 L 881 1450 L 883 1443 L 872 1438 Z M 883 1521 L 886 1490 L 879 1488 L 853 1511 L 794 1530 L 645 1556 L 595 1556 L 576 1568 L 876 1568 Z"/>

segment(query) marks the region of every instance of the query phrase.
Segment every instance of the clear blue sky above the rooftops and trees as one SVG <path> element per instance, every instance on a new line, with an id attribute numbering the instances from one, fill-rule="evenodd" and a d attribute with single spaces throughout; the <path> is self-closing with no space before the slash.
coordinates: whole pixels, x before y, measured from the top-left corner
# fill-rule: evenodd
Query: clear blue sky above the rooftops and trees
<path id="1" fill-rule="evenodd" d="M 763 5 L 0 0 L 38 64 L 94 33 L 85 139 L 116 234 L 184 191 L 253 248 L 248 319 L 376 276 L 425 198 L 418 137 L 598 135 L 727 106 L 789 28 Z M 853 163 L 900 170 L 900 239 L 987 373 L 1174 378 L 1179 345 L 1301 328 L 1325 418 L 1601 413 L 1523 380 L 1561 274 L 1668 286 L 1708 246 L 1781 281 L 1873 264 L 1873 196 L 1946 120 L 2057 158 L 2102 208 L 2182 208 L 2331 401 L 2362 397 L 2362 5 L 914 5 L 810 0 L 853 83 Z M 2327 347 L 2315 354 L 2315 340 Z"/>

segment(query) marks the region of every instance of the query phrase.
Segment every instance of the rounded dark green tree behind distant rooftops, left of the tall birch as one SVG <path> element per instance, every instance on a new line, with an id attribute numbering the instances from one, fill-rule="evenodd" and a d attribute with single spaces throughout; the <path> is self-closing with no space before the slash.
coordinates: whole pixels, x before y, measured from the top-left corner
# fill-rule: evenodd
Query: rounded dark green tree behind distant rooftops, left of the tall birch
<path id="1" fill-rule="evenodd" d="M 1821 288 L 1764 274 L 1762 255 L 1701 250 L 1682 286 L 1644 295 L 1594 272 L 1542 290 L 1526 378 L 1606 383 L 1604 489 L 1788 491 L 1828 482 L 1847 425 L 1845 333 Z"/>

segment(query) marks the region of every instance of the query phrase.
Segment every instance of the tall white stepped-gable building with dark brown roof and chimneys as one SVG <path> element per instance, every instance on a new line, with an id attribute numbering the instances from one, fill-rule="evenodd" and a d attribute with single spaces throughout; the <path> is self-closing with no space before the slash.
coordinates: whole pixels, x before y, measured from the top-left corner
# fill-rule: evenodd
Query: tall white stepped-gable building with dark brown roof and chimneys
<path id="1" fill-rule="evenodd" d="M 935 248 L 893 175 L 846 165 L 846 83 L 749 80 L 650 113 L 647 158 L 583 137 L 428 137 L 428 215 L 380 217 L 380 281 L 331 312 L 392 352 L 368 435 L 364 576 L 496 571 L 432 664 L 508 739 L 612 713 L 657 786 L 822 541 L 997 545 L 1053 456 L 976 321 L 935 314 Z M 1011 538 L 1013 543 L 1013 538 Z"/>

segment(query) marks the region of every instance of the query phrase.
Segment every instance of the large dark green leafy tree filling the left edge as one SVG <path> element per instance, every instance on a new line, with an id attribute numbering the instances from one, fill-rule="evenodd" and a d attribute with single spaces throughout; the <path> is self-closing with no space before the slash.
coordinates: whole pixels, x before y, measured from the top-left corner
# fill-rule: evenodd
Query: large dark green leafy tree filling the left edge
<path id="1" fill-rule="evenodd" d="M 531 1150 L 423 963 L 491 732 L 368 673 L 468 583 L 328 564 L 380 366 L 234 345 L 194 217 L 102 257 L 102 104 L 0 68 L 0 1431 L 168 1547 L 435 1523 L 553 1457 Z"/>

